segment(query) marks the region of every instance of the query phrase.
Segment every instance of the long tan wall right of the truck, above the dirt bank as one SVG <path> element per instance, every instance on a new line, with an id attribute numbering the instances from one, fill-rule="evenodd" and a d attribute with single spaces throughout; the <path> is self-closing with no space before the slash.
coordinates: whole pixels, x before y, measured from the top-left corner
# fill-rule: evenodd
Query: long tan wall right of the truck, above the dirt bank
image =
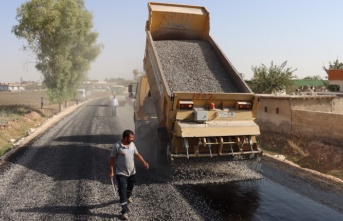
<path id="1" fill-rule="evenodd" d="M 264 95 L 259 99 L 256 123 L 261 131 L 343 140 L 343 97 Z"/>

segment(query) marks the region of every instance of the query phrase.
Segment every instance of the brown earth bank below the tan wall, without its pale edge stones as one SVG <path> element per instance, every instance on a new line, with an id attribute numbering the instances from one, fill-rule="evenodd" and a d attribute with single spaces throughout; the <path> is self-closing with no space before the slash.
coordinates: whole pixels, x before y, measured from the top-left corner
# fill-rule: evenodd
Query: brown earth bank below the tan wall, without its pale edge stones
<path id="1" fill-rule="evenodd" d="M 303 168 L 343 180 L 343 144 L 265 132 L 261 135 L 261 147 L 264 152 L 283 155 Z"/>

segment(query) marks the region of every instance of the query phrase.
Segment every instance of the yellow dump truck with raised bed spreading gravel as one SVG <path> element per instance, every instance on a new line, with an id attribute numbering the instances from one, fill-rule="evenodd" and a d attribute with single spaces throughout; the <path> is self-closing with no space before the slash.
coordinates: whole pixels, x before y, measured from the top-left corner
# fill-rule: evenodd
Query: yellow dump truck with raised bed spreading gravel
<path id="1" fill-rule="evenodd" d="M 149 2 L 148 10 L 136 135 L 168 161 L 262 155 L 258 98 L 209 34 L 206 8 Z"/>

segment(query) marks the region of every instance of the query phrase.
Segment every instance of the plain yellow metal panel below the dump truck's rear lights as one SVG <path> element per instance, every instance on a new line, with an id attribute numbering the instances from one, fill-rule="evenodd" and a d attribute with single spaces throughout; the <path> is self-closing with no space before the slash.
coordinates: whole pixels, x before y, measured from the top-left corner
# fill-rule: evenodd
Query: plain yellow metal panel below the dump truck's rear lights
<path id="1" fill-rule="evenodd" d="M 215 137 L 260 135 L 258 125 L 253 121 L 209 121 L 205 124 L 177 122 L 176 136 L 179 137 Z"/>

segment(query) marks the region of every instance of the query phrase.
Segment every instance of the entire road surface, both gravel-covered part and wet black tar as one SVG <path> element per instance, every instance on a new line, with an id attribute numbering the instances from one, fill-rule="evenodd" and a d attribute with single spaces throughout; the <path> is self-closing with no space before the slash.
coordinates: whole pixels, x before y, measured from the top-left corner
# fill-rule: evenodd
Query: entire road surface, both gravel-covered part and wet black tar
<path id="1" fill-rule="evenodd" d="M 119 220 L 109 155 L 134 130 L 132 116 L 130 102 L 112 117 L 108 98 L 89 101 L 11 155 L 0 168 L 0 220 Z M 224 164 L 231 180 L 190 182 L 137 163 L 129 220 L 343 220 L 339 185 L 269 160 Z"/>

